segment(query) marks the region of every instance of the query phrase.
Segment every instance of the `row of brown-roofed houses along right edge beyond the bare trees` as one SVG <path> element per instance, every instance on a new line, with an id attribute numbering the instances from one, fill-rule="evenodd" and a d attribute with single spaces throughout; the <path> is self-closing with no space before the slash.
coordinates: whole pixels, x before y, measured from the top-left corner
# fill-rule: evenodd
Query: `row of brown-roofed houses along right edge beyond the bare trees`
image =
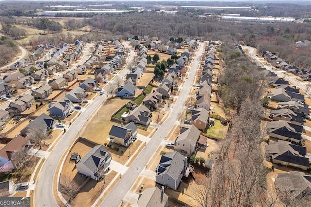
<path id="1" fill-rule="evenodd" d="M 274 62 L 276 67 L 289 71 L 294 68 L 288 63 L 279 60 L 271 52 L 264 53 L 265 58 Z M 268 83 L 276 88 L 268 93 L 268 97 L 278 101 L 277 109 L 271 110 L 270 122 L 267 123 L 267 132 L 277 142 L 269 141 L 265 146 L 266 158 L 273 164 L 308 170 L 310 156 L 304 146 L 304 119 L 309 117 L 309 105 L 304 102 L 304 95 L 299 88 L 291 86 L 288 81 L 278 78 L 276 74 L 268 72 Z M 289 192 L 294 199 L 306 195 L 305 190 L 310 189 L 311 179 L 303 172 L 289 171 L 278 173 L 275 179 L 276 190 Z"/>

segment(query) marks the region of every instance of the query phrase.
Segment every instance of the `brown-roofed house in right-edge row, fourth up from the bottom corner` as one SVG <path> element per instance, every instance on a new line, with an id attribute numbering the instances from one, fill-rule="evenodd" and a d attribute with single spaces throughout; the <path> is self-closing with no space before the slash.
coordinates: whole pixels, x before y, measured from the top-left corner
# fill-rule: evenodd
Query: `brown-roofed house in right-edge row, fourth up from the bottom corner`
<path id="1" fill-rule="evenodd" d="M 293 124 L 298 124 L 298 125 L 302 125 L 303 120 L 304 120 L 303 114 L 292 111 L 291 109 L 288 109 L 288 108 L 272 110 L 270 112 L 269 117 L 275 121 L 286 120 Z"/>

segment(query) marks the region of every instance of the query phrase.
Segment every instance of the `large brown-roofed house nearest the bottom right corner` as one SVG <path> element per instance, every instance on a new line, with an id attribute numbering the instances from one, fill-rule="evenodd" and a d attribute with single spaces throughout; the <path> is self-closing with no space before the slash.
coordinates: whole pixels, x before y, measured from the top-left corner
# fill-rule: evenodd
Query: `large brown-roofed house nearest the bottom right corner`
<path id="1" fill-rule="evenodd" d="M 290 173 L 278 173 L 274 181 L 276 190 L 282 193 L 289 192 L 291 199 L 310 196 L 311 175 L 299 171 L 289 171 Z M 287 197 L 286 197 L 287 198 Z"/>

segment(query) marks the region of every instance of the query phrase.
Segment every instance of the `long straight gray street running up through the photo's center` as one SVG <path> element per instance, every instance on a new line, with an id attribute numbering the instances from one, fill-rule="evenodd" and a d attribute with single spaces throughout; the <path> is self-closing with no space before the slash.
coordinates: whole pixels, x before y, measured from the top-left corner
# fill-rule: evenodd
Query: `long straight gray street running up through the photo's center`
<path id="1" fill-rule="evenodd" d="M 187 97 L 189 95 L 191 83 L 195 76 L 195 71 L 200 63 L 198 57 L 200 57 L 200 55 L 203 52 L 204 52 L 204 44 L 200 44 L 199 49 L 196 52 L 196 56 L 193 59 L 188 79 L 186 80 L 181 90 L 176 105 L 173 107 L 170 116 L 166 119 L 166 121 L 164 121 L 159 130 L 156 131 L 153 138 L 148 142 L 146 147 L 136 157 L 132 165 L 122 176 L 122 178 L 115 186 L 115 188 L 111 190 L 111 192 L 105 198 L 103 203 L 100 204 L 101 207 L 118 207 L 120 205 L 126 193 L 131 189 L 131 186 L 137 180 L 139 174 L 142 172 L 148 161 L 154 155 L 156 149 L 160 146 L 161 142 L 163 141 L 167 133 L 172 129 L 173 125 L 177 121 L 178 114 L 183 110 L 183 107 L 185 106 Z"/>

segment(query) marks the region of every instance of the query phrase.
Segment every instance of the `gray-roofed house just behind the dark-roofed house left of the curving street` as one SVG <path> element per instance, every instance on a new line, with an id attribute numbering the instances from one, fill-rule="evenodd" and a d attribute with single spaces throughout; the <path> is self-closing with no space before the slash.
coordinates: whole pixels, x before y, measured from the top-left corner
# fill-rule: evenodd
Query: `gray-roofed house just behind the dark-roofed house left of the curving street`
<path id="1" fill-rule="evenodd" d="M 54 117 L 68 117 L 72 111 L 72 102 L 64 97 L 55 103 L 49 104 L 50 116 Z"/>

